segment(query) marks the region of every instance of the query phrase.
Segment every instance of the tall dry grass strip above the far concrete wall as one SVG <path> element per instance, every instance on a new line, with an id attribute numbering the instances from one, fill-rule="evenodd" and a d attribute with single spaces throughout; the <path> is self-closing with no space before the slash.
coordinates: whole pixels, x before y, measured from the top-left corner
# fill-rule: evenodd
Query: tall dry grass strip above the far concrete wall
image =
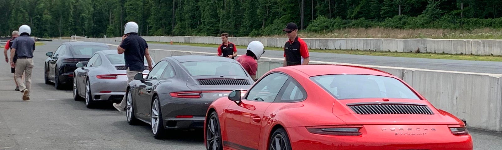
<path id="1" fill-rule="evenodd" d="M 325 32 L 299 31 L 302 38 L 445 38 L 445 39 L 502 39 L 502 29 L 395 29 L 395 28 L 345 28 Z M 286 37 L 272 35 L 263 37 Z"/>

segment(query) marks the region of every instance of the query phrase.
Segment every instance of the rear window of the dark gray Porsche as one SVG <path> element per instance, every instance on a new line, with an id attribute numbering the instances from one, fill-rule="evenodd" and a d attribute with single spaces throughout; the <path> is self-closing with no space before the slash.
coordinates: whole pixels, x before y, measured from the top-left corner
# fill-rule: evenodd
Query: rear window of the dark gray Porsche
<path id="1" fill-rule="evenodd" d="M 188 61 L 180 63 L 192 76 L 199 75 L 236 75 L 246 76 L 238 63 L 226 61 Z"/>

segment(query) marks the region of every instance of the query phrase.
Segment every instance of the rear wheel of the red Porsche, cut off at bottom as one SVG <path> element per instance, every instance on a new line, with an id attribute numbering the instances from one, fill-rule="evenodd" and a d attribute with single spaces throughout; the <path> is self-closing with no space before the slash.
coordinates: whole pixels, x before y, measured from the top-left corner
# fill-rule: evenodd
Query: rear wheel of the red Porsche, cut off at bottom
<path id="1" fill-rule="evenodd" d="M 284 128 L 278 128 L 269 141 L 269 150 L 291 150 L 288 133 Z"/>

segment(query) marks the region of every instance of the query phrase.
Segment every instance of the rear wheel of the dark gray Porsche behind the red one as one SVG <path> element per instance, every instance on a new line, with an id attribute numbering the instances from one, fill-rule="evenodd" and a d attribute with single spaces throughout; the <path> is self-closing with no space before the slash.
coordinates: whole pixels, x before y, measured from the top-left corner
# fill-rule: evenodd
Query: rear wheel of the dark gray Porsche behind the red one
<path id="1" fill-rule="evenodd" d="M 152 110 L 150 113 L 152 133 L 156 139 L 163 139 L 166 137 L 167 130 L 164 128 L 164 120 L 162 119 L 162 111 L 160 108 L 159 96 L 155 95 L 152 102 Z"/>

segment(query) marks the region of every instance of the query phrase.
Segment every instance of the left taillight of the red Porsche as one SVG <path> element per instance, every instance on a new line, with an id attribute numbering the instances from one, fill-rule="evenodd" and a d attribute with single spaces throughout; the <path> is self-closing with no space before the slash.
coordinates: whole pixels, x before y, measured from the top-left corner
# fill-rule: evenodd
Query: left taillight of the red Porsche
<path id="1" fill-rule="evenodd" d="M 362 125 L 355 126 L 311 126 L 307 127 L 307 130 L 311 133 L 315 134 L 325 134 L 325 135 L 343 135 L 343 136 L 357 136 L 362 133 L 359 130 L 362 128 Z"/>

